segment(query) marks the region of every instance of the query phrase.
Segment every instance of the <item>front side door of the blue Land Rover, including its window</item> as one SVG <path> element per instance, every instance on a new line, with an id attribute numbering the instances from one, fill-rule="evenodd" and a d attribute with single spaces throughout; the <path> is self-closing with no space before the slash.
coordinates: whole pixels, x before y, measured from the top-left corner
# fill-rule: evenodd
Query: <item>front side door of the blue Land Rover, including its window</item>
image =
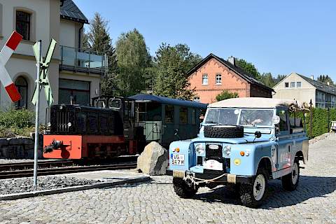
<path id="1" fill-rule="evenodd" d="M 293 145 L 290 139 L 289 117 L 286 108 L 279 108 L 276 110 L 276 115 L 280 117 L 279 131 L 278 131 L 278 145 L 276 147 L 276 170 L 290 167 L 290 148 Z"/>

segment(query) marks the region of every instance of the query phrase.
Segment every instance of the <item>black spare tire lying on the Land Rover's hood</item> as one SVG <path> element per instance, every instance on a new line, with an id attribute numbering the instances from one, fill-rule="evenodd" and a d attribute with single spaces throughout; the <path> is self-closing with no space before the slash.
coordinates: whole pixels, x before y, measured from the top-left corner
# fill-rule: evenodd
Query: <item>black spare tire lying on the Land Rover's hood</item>
<path id="1" fill-rule="evenodd" d="M 242 138 L 243 126 L 204 126 L 204 137 L 208 138 Z"/>

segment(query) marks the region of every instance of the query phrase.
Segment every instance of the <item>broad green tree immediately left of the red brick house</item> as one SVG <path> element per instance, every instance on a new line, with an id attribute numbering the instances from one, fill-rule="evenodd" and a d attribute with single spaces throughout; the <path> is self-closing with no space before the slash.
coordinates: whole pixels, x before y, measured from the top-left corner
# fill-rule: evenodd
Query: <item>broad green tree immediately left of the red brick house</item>
<path id="1" fill-rule="evenodd" d="M 187 72 L 201 61 L 200 55 L 190 52 L 186 44 L 171 46 L 162 43 L 156 51 L 154 94 L 163 97 L 191 99 L 193 90 Z"/>

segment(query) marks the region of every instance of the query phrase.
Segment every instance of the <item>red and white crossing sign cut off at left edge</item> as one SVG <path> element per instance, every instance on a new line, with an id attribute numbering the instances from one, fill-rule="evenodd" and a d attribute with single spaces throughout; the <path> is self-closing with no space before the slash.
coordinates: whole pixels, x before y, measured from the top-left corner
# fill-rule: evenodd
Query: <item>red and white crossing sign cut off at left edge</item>
<path id="1" fill-rule="evenodd" d="M 19 101 L 21 96 L 18 89 L 15 87 L 12 78 L 10 78 L 9 73 L 5 68 L 5 64 L 8 62 L 8 59 L 13 54 L 14 50 L 18 47 L 21 40 L 21 34 L 17 31 L 13 31 L 13 34 L 10 35 L 10 38 L 0 52 L 0 80 L 12 102 Z"/>

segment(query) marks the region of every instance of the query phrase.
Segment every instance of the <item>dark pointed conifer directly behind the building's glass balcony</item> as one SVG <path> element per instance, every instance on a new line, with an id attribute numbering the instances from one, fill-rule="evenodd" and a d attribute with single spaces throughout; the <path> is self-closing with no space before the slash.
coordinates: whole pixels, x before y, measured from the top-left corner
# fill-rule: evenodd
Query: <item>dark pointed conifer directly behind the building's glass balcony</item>
<path id="1" fill-rule="evenodd" d="M 108 71 L 102 80 L 102 94 L 116 94 L 116 50 L 113 48 L 112 39 L 109 36 L 109 22 L 99 13 L 94 13 L 90 21 L 90 27 L 83 36 L 83 50 L 90 50 L 97 55 L 106 55 L 108 58 Z"/>

